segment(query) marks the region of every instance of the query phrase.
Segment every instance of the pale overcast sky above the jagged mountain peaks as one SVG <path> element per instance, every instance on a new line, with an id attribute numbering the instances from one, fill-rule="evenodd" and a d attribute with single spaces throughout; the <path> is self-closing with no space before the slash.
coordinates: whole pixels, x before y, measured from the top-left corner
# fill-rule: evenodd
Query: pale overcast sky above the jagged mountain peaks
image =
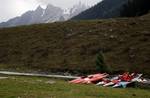
<path id="1" fill-rule="evenodd" d="M 0 22 L 20 16 L 28 10 L 35 10 L 38 5 L 45 7 L 48 3 L 50 3 L 66 9 L 80 1 L 91 6 L 101 0 L 0 0 Z"/>

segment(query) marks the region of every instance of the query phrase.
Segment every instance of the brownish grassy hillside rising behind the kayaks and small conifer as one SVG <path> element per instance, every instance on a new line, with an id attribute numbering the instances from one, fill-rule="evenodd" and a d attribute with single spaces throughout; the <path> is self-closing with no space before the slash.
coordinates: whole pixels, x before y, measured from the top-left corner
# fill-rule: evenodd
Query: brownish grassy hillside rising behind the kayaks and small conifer
<path id="1" fill-rule="evenodd" d="M 150 15 L 0 29 L 0 69 L 96 72 L 99 51 L 114 72 L 150 74 Z"/>

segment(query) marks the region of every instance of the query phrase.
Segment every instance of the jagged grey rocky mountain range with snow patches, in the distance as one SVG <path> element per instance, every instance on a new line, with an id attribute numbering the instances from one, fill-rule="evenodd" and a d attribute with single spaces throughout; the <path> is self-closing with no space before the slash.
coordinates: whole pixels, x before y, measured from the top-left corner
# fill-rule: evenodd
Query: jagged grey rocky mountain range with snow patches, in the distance
<path id="1" fill-rule="evenodd" d="M 89 7 L 79 3 L 74 5 L 72 8 L 67 9 L 68 12 L 66 13 L 66 10 L 53 6 L 52 4 L 48 4 L 46 9 L 38 6 L 34 11 L 27 11 L 20 17 L 15 17 L 8 20 L 7 22 L 0 23 L 0 27 L 13 27 L 20 25 L 65 21 L 78 15 L 87 8 Z"/>

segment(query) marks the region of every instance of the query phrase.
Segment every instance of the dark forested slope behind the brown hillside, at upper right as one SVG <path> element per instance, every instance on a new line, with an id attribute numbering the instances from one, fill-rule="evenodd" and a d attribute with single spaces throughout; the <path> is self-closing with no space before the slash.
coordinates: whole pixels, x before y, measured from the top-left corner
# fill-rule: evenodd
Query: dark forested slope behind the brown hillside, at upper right
<path id="1" fill-rule="evenodd" d="M 150 0 L 103 0 L 72 20 L 141 16 L 150 10 Z"/>

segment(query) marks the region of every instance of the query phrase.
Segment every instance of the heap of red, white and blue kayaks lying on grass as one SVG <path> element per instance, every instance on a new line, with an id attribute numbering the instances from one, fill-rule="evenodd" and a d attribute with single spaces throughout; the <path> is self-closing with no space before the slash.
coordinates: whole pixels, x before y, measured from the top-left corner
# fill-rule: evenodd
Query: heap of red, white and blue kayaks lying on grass
<path id="1" fill-rule="evenodd" d="M 145 82 L 146 80 L 142 78 L 142 74 L 135 74 L 125 72 L 122 75 L 117 75 L 114 77 L 109 77 L 107 73 L 98 73 L 88 76 L 81 76 L 77 79 L 69 81 L 73 84 L 96 84 L 97 86 L 101 85 L 104 87 L 112 86 L 114 88 L 123 87 L 126 88 L 129 84 L 135 82 Z"/>

